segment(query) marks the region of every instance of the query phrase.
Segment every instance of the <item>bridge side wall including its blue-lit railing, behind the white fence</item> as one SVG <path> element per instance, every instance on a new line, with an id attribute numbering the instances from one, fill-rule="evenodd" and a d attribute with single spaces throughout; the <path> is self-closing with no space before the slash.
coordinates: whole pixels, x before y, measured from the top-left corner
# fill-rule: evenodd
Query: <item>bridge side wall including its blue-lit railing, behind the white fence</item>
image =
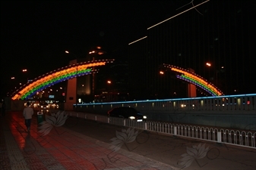
<path id="1" fill-rule="evenodd" d="M 134 107 L 147 119 L 256 130 L 256 94 L 74 104 L 73 110 L 106 115 L 114 107 Z"/>

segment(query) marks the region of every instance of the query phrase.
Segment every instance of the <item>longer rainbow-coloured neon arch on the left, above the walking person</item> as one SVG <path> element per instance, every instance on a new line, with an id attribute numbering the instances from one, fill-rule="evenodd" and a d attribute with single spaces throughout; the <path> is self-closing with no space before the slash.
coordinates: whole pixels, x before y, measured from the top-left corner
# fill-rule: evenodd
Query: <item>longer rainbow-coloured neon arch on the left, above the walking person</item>
<path id="1" fill-rule="evenodd" d="M 12 100 L 24 100 L 28 97 L 32 97 L 36 92 L 42 91 L 45 88 L 48 88 L 51 85 L 55 85 L 58 82 L 63 82 L 68 79 L 72 79 L 77 76 L 84 76 L 90 73 L 93 73 L 92 68 L 95 66 L 103 66 L 106 63 L 112 62 L 112 59 L 109 60 L 94 60 L 84 63 L 76 63 L 73 65 L 62 67 L 61 69 L 46 73 L 43 76 L 40 76 L 34 79 L 32 82 L 27 83 L 17 90 Z"/>

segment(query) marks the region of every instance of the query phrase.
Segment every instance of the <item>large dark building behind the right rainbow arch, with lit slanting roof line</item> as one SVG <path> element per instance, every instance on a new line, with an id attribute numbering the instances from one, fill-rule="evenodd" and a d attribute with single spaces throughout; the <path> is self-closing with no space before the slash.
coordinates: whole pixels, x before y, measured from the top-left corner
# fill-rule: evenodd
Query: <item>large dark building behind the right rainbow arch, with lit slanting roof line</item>
<path id="1" fill-rule="evenodd" d="M 149 26 L 141 39 L 129 43 L 131 100 L 188 97 L 187 82 L 170 71 L 160 75 L 163 63 L 193 69 L 224 94 L 255 93 L 255 2 L 200 3 Z M 207 93 L 198 88 L 201 95 Z"/>

